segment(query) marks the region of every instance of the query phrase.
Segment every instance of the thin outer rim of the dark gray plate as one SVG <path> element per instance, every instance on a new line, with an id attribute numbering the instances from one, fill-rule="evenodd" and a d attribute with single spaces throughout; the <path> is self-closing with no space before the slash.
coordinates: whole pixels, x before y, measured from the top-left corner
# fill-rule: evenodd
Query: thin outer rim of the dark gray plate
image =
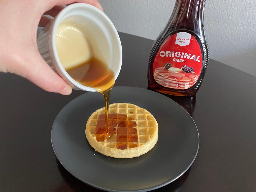
<path id="1" fill-rule="evenodd" d="M 144 89 L 144 88 L 141 88 L 141 87 L 133 87 L 133 86 L 114 86 L 114 87 L 130 87 L 130 88 L 136 88 L 136 89 L 143 89 L 143 90 L 147 90 L 147 91 L 152 91 L 152 90 L 149 90 L 149 89 Z M 113 87 L 113 88 L 114 88 Z M 157 93 L 157 94 L 160 94 L 160 95 L 163 95 L 161 93 L 158 93 L 158 92 L 155 92 L 155 91 L 152 91 L 154 93 Z M 82 97 L 84 94 L 87 94 L 87 93 L 90 93 L 89 91 L 86 92 L 86 93 L 83 93 L 82 95 L 79 95 L 78 97 Z M 166 95 L 163 95 L 164 97 L 167 97 Z M 70 102 L 73 102 L 75 99 L 77 99 L 78 97 L 72 99 L 71 101 L 69 101 L 64 107 L 66 107 Z M 167 97 L 168 99 L 171 99 L 169 97 Z M 171 99 L 172 100 L 172 99 Z M 174 100 L 172 100 L 173 102 L 175 102 Z M 177 105 L 179 105 L 179 103 L 175 102 Z M 57 116 L 55 117 L 54 119 L 54 122 L 53 122 L 53 125 L 51 127 L 51 145 L 53 147 L 53 151 L 54 151 L 54 154 L 55 154 L 55 157 L 58 159 L 58 161 L 61 163 L 61 165 L 69 172 L 69 174 L 71 174 L 73 177 L 77 178 L 79 181 L 85 183 L 86 185 L 89 185 L 91 187 L 94 187 L 96 189 L 100 189 L 100 190 L 103 190 L 103 191 L 110 191 L 110 192 L 145 192 L 145 191 L 151 191 L 151 190 L 155 190 L 155 189 L 158 189 L 158 188 L 161 188 L 163 186 L 166 186 L 172 182 L 174 182 L 176 179 L 180 178 L 184 173 L 186 173 L 186 171 L 191 167 L 191 165 L 194 163 L 195 161 L 195 158 L 197 157 L 197 154 L 198 154 L 198 150 L 199 150 L 199 144 L 200 144 L 200 138 L 199 138 L 199 132 L 198 132 L 198 129 L 197 129 L 197 125 L 195 124 L 195 121 L 194 119 L 191 117 L 191 115 L 181 106 L 179 105 L 188 115 L 189 117 L 192 119 L 194 125 L 195 125 L 195 128 L 197 130 L 197 136 L 198 136 L 198 146 L 197 146 L 197 152 L 193 158 L 193 160 L 191 161 L 190 165 L 181 173 L 178 175 L 178 177 L 170 180 L 170 181 L 167 181 L 167 182 L 163 182 L 159 185 L 155 185 L 153 187 L 148 187 L 148 188 L 144 188 L 144 189 L 139 189 L 139 190 L 114 190 L 114 189 L 107 189 L 107 188 L 104 188 L 104 187 L 101 187 L 101 186 L 97 186 L 97 185 L 93 185 L 89 182 L 86 182 L 86 181 L 83 181 L 82 179 L 80 179 L 79 177 L 77 177 L 72 171 L 70 171 L 63 163 L 62 161 L 59 159 L 55 149 L 54 149 L 54 146 L 53 146 L 53 126 L 54 126 L 54 123 L 57 119 L 57 117 L 59 116 L 59 114 L 61 113 L 61 111 L 64 109 L 64 107 L 62 107 L 62 109 L 59 111 L 59 113 L 57 114 Z M 87 141 L 88 142 L 88 141 Z"/>

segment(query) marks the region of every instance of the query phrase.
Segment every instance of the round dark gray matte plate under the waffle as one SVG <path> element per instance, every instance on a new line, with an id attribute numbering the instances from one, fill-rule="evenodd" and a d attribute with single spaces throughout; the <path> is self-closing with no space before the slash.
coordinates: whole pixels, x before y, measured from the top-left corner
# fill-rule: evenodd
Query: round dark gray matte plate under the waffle
<path id="1" fill-rule="evenodd" d="M 117 159 L 95 151 L 85 137 L 87 119 L 104 106 L 100 93 L 83 94 L 56 117 L 51 140 L 61 164 L 79 180 L 106 191 L 149 191 L 179 178 L 199 147 L 190 115 L 164 95 L 136 87 L 114 87 L 110 103 L 133 103 L 147 109 L 159 126 L 158 142 L 140 157 Z"/>

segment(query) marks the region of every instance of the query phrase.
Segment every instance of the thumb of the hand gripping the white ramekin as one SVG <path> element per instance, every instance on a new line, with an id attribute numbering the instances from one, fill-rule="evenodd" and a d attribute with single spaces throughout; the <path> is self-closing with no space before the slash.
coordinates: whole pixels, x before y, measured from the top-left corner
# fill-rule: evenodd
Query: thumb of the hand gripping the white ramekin
<path id="1" fill-rule="evenodd" d="M 21 65 L 15 67 L 13 73 L 28 79 L 45 91 L 62 95 L 71 94 L 71 86 L 51 69 L 38 52 L 30 55 L 33 57 L 22 61 Z"/>

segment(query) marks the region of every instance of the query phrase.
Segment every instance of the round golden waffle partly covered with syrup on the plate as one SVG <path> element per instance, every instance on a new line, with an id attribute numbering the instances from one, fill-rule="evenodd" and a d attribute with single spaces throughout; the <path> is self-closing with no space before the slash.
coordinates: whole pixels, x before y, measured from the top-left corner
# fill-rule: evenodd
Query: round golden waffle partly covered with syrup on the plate
<path id="1" fill-rule="evenodd" d="M 85 134 L 99 153 L 115 158 L 132 158 L 155 146 L 158 124 L 149 111 L 130 103 L 109 105 L 108 133 L 104 107 L 96 110 L 86 123 Z"/>

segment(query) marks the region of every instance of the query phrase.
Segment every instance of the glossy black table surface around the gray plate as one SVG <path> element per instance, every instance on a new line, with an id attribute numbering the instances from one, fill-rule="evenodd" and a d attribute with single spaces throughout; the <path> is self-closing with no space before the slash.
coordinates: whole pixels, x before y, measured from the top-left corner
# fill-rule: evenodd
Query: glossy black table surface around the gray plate
<path id="1" fill-rule="evenodd" d="M 115 86 L 147 89 L 154 41 L 119 35 L 123 65 Z M 256 190 L 255 84 L 253 75 L 210 59 L 196 97 L 170 97 L 194 119 L 200 146 L 190 169 L 155 191 Z M 17 75 L 0 73 L 0 191 L 101 191 L 69 174 L 51 146 L 55 117 L 83 93 L 48 93 Z"/>

